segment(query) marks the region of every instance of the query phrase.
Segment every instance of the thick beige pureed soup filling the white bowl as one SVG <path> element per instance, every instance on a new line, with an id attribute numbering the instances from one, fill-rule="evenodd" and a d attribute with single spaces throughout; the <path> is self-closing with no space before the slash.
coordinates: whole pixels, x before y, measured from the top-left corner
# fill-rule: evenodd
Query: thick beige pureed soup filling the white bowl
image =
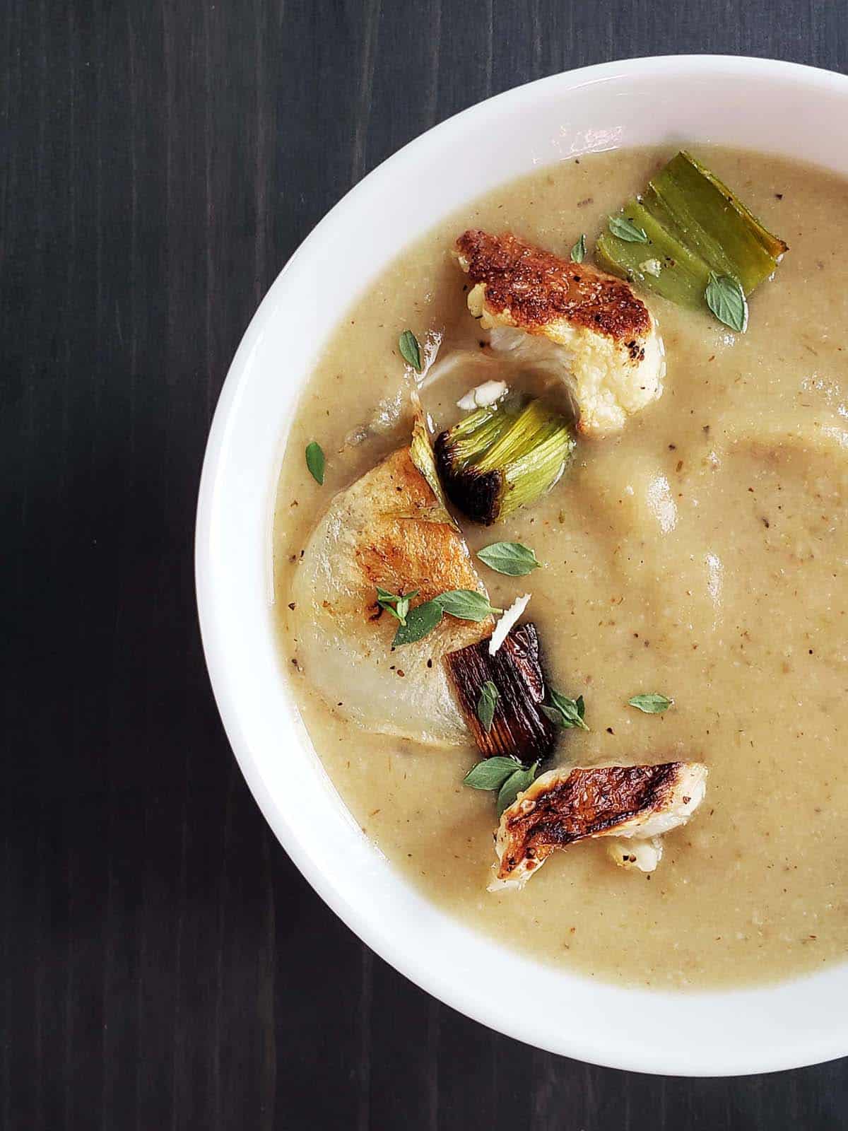
<path id="1" fill-rule="evenodd" d="M 544 563 L 528 577 L 479 573 L 493 605 L 531 594 L 525 619 L 550 682 L 585 696 L 591 729 L 561 732 L 553 766 L 709 767 L 704 802 L 666 835 L 656 871 L 616 867 L 603 840 L 587 840 L 553 854 L 523 890 L 488 892 L 497 819 L 491 793 L 462 785 L 481 757 L 470 736 L 439 748 L 348 720 L 296 663 L 288 606 L 334 493 L 408 443 L 415 382 L 399 334 L 442 336 L 440 359 L 459 347 L 486 355 L 450 254 L 457 236 L 511 231 L 568 258 L 585 232 L 591 257 L 606 217 L 670 152 L 563 162 L 403 250 L 344 312 L 303 395 L 275 530 L 284 666 L 364 834 L 430 898 L 504 944 L 659 987 L 784 978 L 841 959 L 848 944 L 848 184 L 758 154 L 696 155 L 789 244 L 751 297 L 747 333 L 634 286 L 665 343 L 661 398 L 621 433 L 580 439 L 535 506 L 493 527 L 462 523 L 473 550 L 520 542 Z M 462 415 L 469 387 L 496 375 L 485 361 L 443 366 L 422 391 L 436 430 Z M 323 486 L 304 463 L 312 440 L 327 455 Z M 344 703 L 344 668 L 337 679 Z M 628 706 L 650 691 L 674 706 Z"/>

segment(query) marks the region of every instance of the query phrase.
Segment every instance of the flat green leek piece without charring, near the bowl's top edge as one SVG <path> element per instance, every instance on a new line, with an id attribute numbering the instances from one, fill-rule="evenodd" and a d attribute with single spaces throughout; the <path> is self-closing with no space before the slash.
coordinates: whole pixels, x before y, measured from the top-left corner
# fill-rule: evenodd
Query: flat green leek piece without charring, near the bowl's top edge
<path id="1" fill-rule="evenodd" d="M 738 279 L 749 295 L 787 250 L 685 150 L 626 202 L 624 216 L 644 228 L 648 243 L 628 243 L 606 231 L 597 242 L 598 264 L 683 307 L 703 308 L 710 271 Z"/>

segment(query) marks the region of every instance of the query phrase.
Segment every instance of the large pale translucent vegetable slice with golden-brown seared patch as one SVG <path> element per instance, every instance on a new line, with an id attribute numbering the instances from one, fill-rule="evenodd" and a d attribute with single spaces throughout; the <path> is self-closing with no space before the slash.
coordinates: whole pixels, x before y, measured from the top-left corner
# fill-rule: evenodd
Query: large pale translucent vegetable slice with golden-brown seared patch
<path id="1" fill-rule="evenodd" d="M 400 448 L 332 499 L 304 546 L 292 588 L 298 671 L 334 710 L 365 729 L 466 743 L 442 657 L 487 642 L 492 618 L 458 620 L 439 608 L 432 631 L 392 650 L 403 625 L 386 611 L 389 597 L 398 598 L 397 610 L 417 590 L 404 615 L 412 629 L 419 603 L 430 607 L 455 589 L 485 593 L 465 539 L 410 449 Z"/>

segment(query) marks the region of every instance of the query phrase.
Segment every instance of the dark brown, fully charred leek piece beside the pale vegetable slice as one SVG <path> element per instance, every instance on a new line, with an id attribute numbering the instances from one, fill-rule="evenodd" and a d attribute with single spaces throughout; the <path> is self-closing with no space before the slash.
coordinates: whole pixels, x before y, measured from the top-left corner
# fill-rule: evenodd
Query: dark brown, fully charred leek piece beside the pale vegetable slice
<path id="1" fill-rule="evenodd" d="M 542 710 L 545 677 L 535 624 L 512 629 L 494 656 L 488 655 L 488 641 L 482 640 L 448 653 L 444 664 L 462 715 L 486 758 L 501 754 L 530 766 L 551 754 L 557 732 Z M 488 729 L 477 711 L 487 683 L 497 692 Z"/>

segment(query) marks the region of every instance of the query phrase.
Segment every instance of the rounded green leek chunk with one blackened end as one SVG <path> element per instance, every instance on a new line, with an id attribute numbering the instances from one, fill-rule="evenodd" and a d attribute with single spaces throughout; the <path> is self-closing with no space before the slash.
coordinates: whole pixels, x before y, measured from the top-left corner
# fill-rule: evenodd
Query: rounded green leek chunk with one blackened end
<path id="1" fill-rule="evenodd" d="M 550 491 L 574 443 L 564 416 L 522 399 L 478 408 L 442 432 L 435 460 L 451 502 L 488 526 Z"/>

